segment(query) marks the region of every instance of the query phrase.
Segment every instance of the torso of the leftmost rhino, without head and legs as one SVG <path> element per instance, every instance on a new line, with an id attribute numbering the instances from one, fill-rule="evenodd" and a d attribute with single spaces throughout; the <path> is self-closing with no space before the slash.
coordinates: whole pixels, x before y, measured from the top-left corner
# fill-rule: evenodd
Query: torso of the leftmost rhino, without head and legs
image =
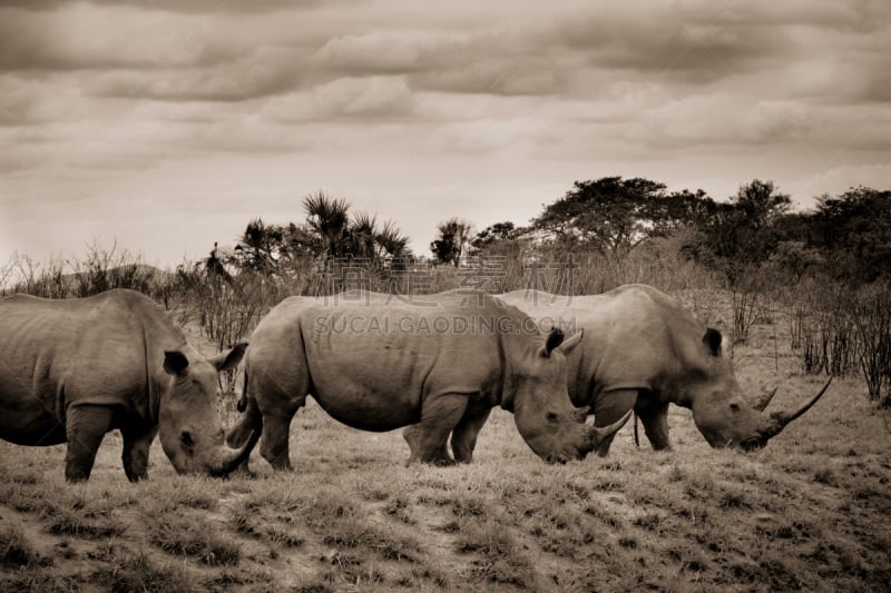
<path id="1" fill-rule="evenodd" d="M 160 368 L 165 345 L 183 342 L 154 302 L 129 290 L 84 299 L 6 298 L 0 302 L 3 409 L 38 424 L 50 411 L 63 421 L 72 404 L 121 405 L 149 416 L 149 383 L 161 380 L 149 369 Z"/>

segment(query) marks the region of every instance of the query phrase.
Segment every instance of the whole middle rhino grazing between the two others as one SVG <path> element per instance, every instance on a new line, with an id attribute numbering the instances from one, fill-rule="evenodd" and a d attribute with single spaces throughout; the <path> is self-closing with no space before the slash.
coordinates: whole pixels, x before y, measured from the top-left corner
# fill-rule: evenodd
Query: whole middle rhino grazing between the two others
<path id="1" fill-rule="evenodd" d="M 261 455 L 290 468 L 291 419 L 307 394 L 355 428 L 420 423 L 409 462 L 451 462 L 452 431 L 456 458 L 469 462 L 493 406 L 512 412 L 526 443 L 549 462 L 584 457 L 628 419 L 594 428 L 570 404 L 565 354 L 580 333 L 544 339 L 529 316 L 480 291 L 417 298 L 423 303 L 362 293 L 278 304 L 251 337 L 244 415 L 229 444 L 262 429 Z"/>

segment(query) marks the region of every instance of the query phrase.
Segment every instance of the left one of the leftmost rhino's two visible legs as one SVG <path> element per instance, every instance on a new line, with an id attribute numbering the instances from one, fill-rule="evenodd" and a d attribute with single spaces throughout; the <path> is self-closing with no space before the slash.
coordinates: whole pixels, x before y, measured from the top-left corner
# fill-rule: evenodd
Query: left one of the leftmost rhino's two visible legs
<path id="1" fill-rule="evenodd" d="M 65 478 L 68 482 L 84 482 L 90 477 L 96 452 L 114 421 L 115 411 L 108 406 L 79 405 L 68 408 L 68 451 L 65 454 Z"/>

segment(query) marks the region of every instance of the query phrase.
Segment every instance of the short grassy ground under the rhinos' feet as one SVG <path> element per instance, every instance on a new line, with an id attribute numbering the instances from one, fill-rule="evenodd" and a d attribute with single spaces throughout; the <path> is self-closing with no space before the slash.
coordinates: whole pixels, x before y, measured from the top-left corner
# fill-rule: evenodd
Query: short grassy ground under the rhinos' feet
<path id="1" fill-rule="evenodd" d="M 709 322 L 731 315 L 724 294 L 693 302 Z M 733 348 L 746 394 L 779 386 L 768 411 L 794 408 L 825 379 L 802 373 L 792 327 L 779 310 L 762 315 Z M 235 397 L 221 403 L 227 425 Z M 496 409 L 472 464 L 405 467 L 399 431 L 349 428 L 310 401 L 291 427 L 293 473 L 273 473 L 255 449 L 249 475 L 179 476 L 156 439 L 136 484 L 117 432 L 74 485 L 63 445 L 0 442 L 0 590 L 891 586 L 891 428 L 862 375 L 836 378 L 754 453 L 711 448 L 679 407 L 669 425 L 672 452 L 653 452 L 643 431 L 636 448 L 629 423 L 607 458 L 547 465 Z"/>

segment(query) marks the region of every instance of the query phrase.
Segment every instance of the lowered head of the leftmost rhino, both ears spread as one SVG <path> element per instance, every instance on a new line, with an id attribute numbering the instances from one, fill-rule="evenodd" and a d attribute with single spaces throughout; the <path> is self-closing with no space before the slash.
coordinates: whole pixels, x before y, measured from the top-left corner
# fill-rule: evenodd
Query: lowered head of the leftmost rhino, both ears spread
<path id="1" fill-rule="evenodd" d="M 217 374 L 238 366 L 247 344 L 205 359 L 194 348 L 167 350 L 169 375 L 160 397 L 158 434 L 164 453 L 180 474 L 225 476 L 251 455 L 260 435 L 251 434 L 237 448 L 224 442 L 216 413 Z"/>

